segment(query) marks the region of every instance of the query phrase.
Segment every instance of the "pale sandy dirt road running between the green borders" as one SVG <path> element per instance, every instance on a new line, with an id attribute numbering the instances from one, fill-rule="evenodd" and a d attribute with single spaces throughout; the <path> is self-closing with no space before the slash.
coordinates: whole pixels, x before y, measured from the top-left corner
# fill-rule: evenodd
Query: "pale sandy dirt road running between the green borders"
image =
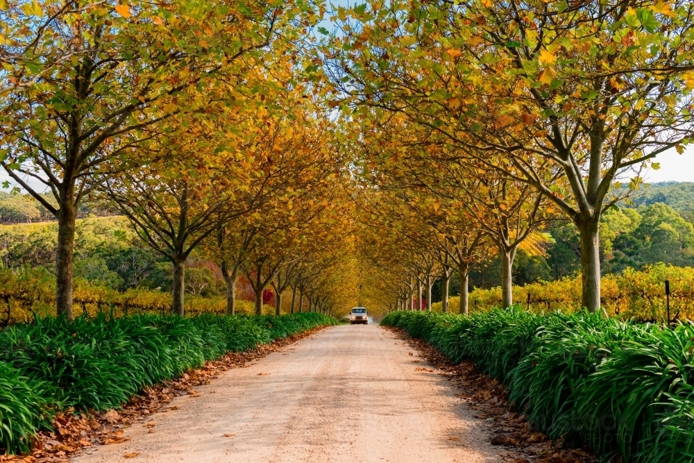
<path id="1" fill-rule="evenodd" d="M 499 462 L 481 421 L 417 359 L 379 326 L 328 328 L 74 461 Z"/>

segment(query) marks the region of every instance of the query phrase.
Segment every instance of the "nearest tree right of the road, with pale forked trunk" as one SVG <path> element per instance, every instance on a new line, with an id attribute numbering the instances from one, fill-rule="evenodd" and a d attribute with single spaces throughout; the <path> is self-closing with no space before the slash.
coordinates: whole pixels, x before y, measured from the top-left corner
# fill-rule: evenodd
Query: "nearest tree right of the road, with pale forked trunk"
<path id="1" fill-rule="evenodd" d="M 595 311 L 613 186 L 636 169 L 636 187 L 639 169 L 693 134 L 694 6 L 375 5 L 353 8 L 352 23 L 338 12 L 346 27 L 328 56 L 344 101 L 405 114 L 555 203 L 579 229 L 582 300 Z"/>

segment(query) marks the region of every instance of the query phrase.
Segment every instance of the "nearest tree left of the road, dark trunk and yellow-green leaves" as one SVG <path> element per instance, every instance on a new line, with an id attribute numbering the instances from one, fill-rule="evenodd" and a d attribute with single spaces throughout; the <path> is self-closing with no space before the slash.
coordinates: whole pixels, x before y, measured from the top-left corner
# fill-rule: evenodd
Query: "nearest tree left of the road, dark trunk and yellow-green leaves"
<path id="1" fill-rule="evenodd" d="M 85 8 L 46 22 L 42 37 L 50 40 L 37 42 L 69 59 L 47 63 L 31 85 L 0 103 L 0 164 L 58 219 L 57 305 L 68 318 L 81 201 L 112 176 L 146 164 L 151 140 L 175 130 L 173 115 L 208 108 L 218 96 L 211 87 L 243 83 L 278 43 L 297 38 L 291 19 L 313 15 L 312 6 L 291 1 L 70 4 Z M 36 26 L 28 16 L 14 20 L 22 21 L 13 26 L 20 30 Z M 27 178 L 45 185 L 57 205 Z"/>

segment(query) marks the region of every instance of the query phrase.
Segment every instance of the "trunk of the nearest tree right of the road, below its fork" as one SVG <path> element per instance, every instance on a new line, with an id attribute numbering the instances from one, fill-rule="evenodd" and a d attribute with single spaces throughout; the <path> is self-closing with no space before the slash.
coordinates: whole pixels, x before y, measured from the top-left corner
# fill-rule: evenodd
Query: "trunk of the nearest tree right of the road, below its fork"
<path id="1" fill-rule="evenodd" d="M 600 308 L 600 244 L 598 221 L 579 224 L 581 239 L 582 303 L 593 313 Z"/>

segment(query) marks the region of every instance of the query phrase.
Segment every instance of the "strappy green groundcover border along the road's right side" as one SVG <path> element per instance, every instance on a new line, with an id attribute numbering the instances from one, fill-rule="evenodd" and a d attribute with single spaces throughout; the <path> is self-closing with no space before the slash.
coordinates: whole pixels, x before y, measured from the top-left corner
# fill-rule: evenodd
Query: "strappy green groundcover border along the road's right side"
<path id="1" fill-rule="evenodd" d="M 476 362 L 551 439 L 589 446 L 603 461 L 694 459 L 694 325 L 673 329 L 602 314 L 522 308 L 470 317 L 391 312 L 452 362 Z"/>

